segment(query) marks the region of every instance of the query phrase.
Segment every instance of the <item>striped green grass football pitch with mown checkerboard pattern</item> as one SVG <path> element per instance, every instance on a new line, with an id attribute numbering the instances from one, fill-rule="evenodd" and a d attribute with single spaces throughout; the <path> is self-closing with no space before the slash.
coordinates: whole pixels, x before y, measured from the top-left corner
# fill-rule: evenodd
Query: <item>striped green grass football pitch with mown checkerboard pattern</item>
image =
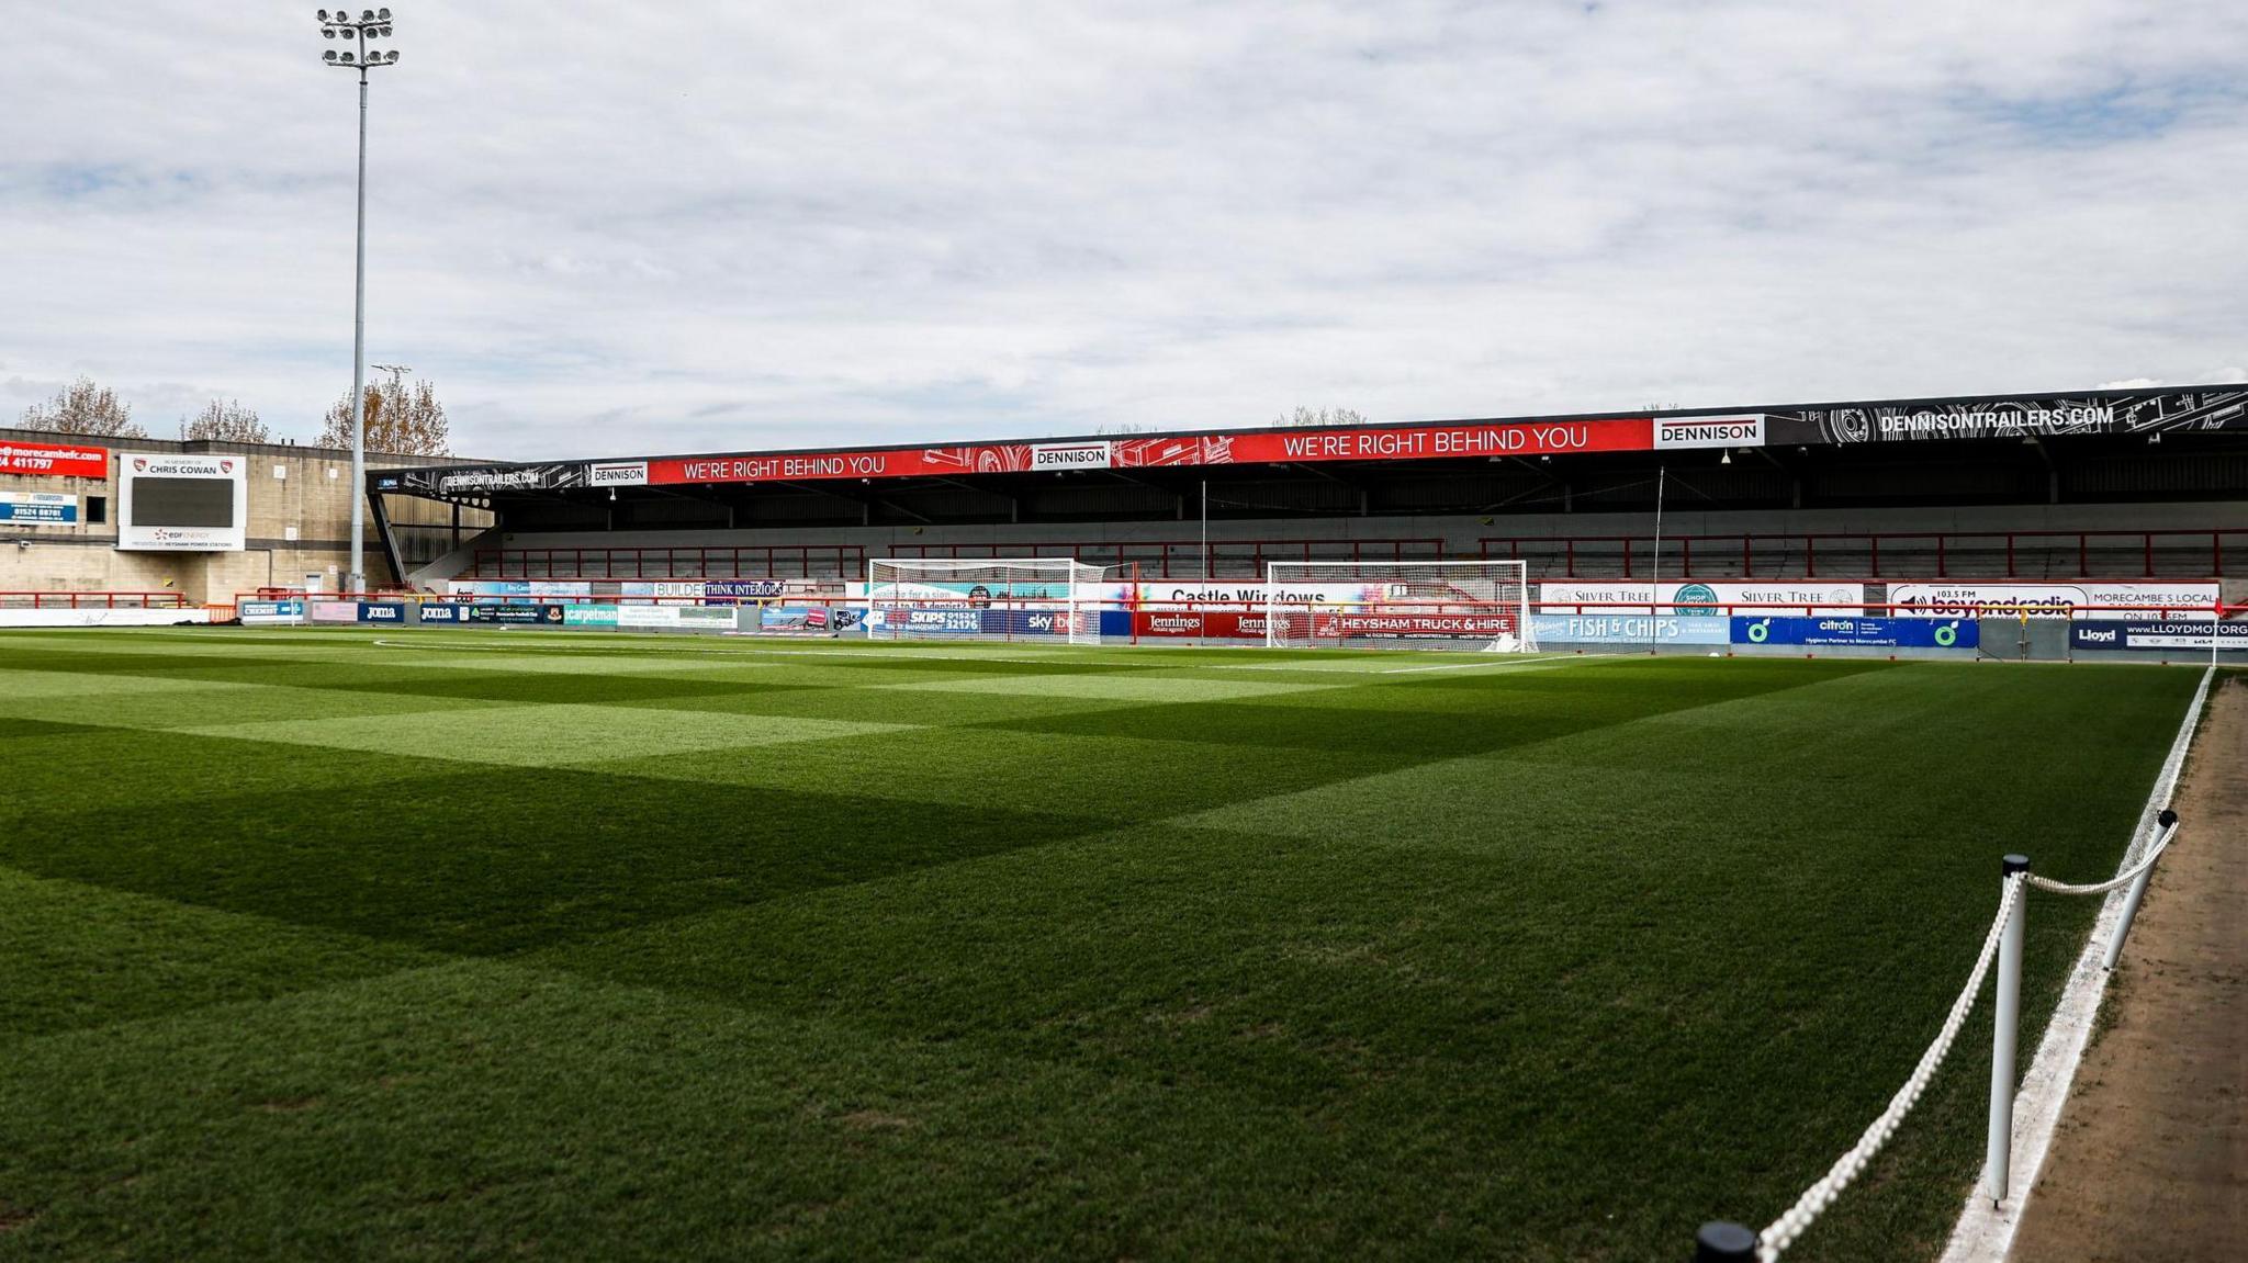
<path id="1" fill-rule="evenodd" d="M 2194 685 L 0 634 L 0 1259 L 1684 1259 Z M 1987 1047 L 1789 1259 L 1940 1247 Z"/>

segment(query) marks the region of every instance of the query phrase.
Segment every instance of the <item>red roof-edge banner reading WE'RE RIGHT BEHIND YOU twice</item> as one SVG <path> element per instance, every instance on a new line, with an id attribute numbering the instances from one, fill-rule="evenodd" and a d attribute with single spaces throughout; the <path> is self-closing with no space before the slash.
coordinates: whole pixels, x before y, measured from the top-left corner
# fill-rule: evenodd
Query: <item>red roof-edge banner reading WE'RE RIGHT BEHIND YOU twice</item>
<path id="1" fill-rule="evenodd" d="M 794 483 L 816 479 L 915 479 L 1023 474 L 1045 470 L 1151 470 L 1189 465 L 1293 465 L 1311 461 L 1432 461 L 1461 456 L 1558 456 L 1562 452 L 1648 452 L 1655 422 L 1506 420 L 1486 425 L 1383 425 L 1362 429 L 1272 429 L 1070 443 L 982 443 L 791 452 L 776 456 L 670 456 L 647 463 L 647 481 Z"/>

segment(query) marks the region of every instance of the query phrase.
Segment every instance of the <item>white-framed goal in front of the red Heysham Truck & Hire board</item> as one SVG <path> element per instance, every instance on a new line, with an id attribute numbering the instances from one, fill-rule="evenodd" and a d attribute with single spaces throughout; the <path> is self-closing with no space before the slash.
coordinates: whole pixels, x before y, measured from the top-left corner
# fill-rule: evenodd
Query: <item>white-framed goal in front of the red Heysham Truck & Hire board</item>
<path id="1" fill-rule="evenodd" d="M 1270 562 L 1266 645 L 1535 652 L 1522 562 Z"/>

